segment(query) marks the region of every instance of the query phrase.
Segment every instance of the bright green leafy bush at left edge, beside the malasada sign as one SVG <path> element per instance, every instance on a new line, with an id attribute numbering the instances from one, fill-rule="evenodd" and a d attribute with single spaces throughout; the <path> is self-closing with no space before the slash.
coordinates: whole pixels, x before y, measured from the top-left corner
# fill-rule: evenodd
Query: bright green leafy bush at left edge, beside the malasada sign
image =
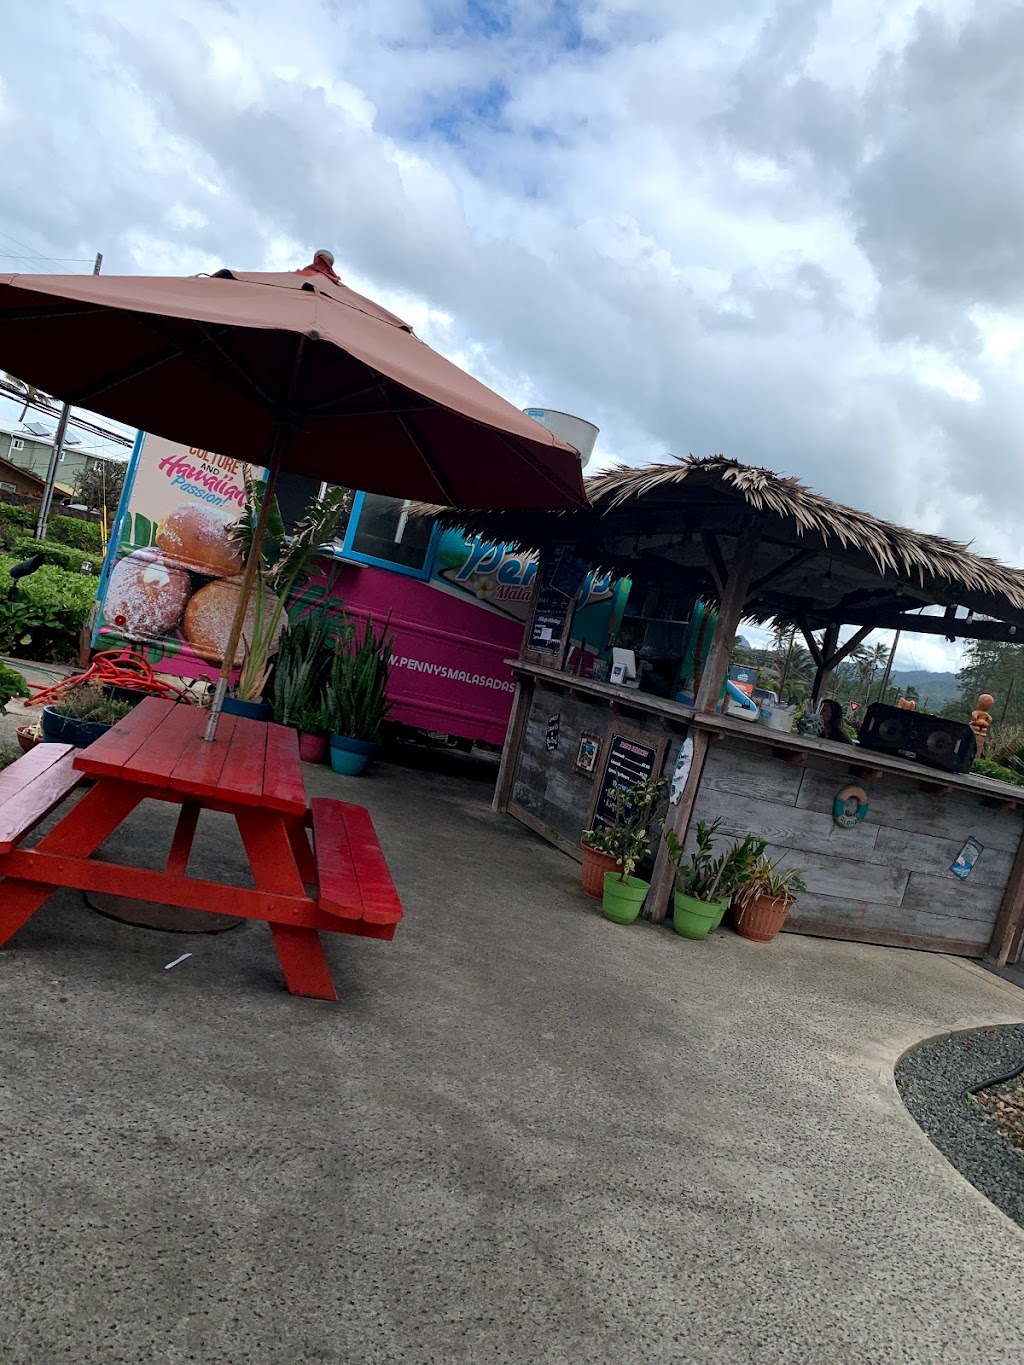
<path id="1" fill-rule="evenodd" d="M 41 663 L 75 661 L 100 579 L 44 564 L 22 579 L 18 595 L 11 597 L 11 568 L 16 562 L 10 554 L 0 556 L 0 654 Z"/>

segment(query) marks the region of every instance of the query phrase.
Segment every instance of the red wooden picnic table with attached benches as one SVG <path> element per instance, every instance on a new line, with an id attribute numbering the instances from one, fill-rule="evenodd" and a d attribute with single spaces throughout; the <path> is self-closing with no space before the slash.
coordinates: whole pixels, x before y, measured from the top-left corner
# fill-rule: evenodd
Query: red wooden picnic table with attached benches
<path id="1" fill-rule="evenodd" d="M 0 773 L 0 945 L 59 886 L 116 891 L 266 920 L 288 990 L 337 999 L 318 930 L 390 939 L 401 919 L 370 815 L 330 799 L 307 804 L 294 730 L 223 715 L 208 743 L 205 725 L 201 707 L 149 698 L 89 748 L 40 744 Z M 94 785 L 60 823 L 22 848 L 86 778 Z M 180 807 L 162 871 L 96 861 L 91 854 L 146 799 Z M 188 875 L 203 809 L 233 815 L 255 887 Z"/>

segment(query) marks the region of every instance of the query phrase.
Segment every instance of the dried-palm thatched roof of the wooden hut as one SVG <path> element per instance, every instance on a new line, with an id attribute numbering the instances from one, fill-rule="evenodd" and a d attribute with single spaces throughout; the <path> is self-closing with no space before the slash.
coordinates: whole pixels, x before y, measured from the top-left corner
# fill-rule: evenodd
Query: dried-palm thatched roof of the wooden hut
<path id="1" fill-rule="evenodd" d="M 756 527 L 750 616 L 866 624 L 872 612 L 890 617 L 939 603 L 1024 624 L 1024 571 L 770 470 L 689 456 L 608 470 L 587 480 L 587 494 L 591 509 L 571 513 L 418 511 L 523 547 L 568 541 L 595 565 L 680 587 L 685 580 L 713 597 L 736 536 Z M 963 627 L 961 618 L 957 635 L 975 633 Z"/>

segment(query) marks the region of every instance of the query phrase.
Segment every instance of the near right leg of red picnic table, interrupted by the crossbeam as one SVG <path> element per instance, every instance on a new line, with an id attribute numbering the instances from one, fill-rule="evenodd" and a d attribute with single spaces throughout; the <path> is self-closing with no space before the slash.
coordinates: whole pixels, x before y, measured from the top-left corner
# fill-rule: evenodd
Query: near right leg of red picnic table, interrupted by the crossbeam
<path id="1" fill-rule="evenodd" d="M 235 819 L 257 890 L 304 895 L 306 887 L 284 818 L 273 811 L 254 809 L 238 811 Z M 298 924 L 274 924 L 272 920 L 269 924 L 284 980 L 292 995 L 336 1001 L 337 992 L 317 931 Z"/>

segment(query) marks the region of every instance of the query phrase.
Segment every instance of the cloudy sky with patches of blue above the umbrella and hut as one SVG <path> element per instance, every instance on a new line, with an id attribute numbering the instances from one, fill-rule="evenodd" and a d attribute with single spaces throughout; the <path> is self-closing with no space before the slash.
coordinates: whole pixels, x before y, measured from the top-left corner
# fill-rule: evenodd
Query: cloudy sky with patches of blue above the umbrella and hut
<path id="1" fill-rule="evenodd" d="M 34 0 L 0 165 L 0 269 L 326 246 L 601 461 L 1024 562 L 1020 0 Z"/>

